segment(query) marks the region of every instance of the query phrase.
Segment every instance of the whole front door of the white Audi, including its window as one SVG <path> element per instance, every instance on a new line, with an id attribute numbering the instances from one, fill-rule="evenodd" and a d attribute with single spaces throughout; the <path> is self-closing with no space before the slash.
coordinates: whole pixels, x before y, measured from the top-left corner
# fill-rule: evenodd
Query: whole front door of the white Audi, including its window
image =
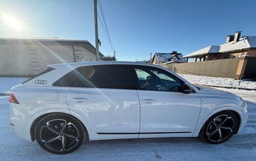
<path id="1" fill-rule="evenodd" d="M 134 66 L 134 70 L 140 86 L 139 137 L 192 136 L 200 112 L 198 94 L 183 94 L 182 81 L 161 68 Z"/>

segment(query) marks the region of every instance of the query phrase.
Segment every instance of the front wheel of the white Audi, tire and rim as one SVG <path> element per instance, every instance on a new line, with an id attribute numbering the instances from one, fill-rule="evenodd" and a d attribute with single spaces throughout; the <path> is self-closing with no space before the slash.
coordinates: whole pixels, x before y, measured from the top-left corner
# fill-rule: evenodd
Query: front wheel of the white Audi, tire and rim
<path id="1" fill-rule="evenodd" d="M 238 125 L 237 118 L 230 111 L 214 114 L 203 125 L 200 137 L 210 144 L 221 144 L 234 135 Z"/>

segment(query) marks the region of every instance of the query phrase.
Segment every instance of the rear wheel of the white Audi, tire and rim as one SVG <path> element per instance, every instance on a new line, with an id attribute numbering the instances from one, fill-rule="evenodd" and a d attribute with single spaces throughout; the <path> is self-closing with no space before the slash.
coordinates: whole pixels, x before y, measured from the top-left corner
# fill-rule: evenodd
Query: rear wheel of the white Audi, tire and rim
<path id="1" fill-rule="evenodd" d="M 71 153 L 89 140 L 83 123 L 64 113 L 43 117 L 35 127 L 35 139 L 44 150 L 54 154 Z"/>

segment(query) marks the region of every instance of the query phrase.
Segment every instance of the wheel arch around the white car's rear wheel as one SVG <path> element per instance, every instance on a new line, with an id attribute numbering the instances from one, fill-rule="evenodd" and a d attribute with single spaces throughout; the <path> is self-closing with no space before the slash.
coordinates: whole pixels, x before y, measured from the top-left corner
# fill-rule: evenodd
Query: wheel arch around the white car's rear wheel
<path id="1" fill-rule="evenodd" d="M 47 116 L 48 114 L 53 114 L 53 113 L 56 113 L 56 114 L 67 114 L 71 117 L 75 117 L 78 121 L 80 121 L 82 123 L 82 125 L 84 126 L 85 128 L 85 132 L 86 132 L 86 135 L 87 135 L 87 139 L 89 140 L 89 134 L 88 134 L 88 131 L 90 131 L 90 126 L 88 125 L 88 123 L 84 120 L 84 118 L 82 118 L 81 116 L 79 116 L 78 114 L 75 114 L 75 113 L 72 113 L 70 114 L 70 112 L 48 112 L 48 113 L 43 113 L 43 114 L 40 114 L 37 116 L 34 116 L 34 119 L 31 118 L 28 122 L 31 122 L 31 123 L 27 123 L 27 126 L 30 125 L 30 136 L 31 136 L 31 140 L 32 141 L 35 141 L 35 127 L 36 125 L 38 124 L 38 122 L 44 118 L 45 116 Z M 29 125 L 28 125 L 29 124 Z"/>

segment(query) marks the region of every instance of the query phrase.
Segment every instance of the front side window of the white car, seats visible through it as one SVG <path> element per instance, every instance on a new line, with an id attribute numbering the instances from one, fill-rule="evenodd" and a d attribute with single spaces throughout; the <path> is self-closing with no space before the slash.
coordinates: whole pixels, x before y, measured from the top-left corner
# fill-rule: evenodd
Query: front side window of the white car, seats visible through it
<path id="1" fill-rule="evenodd" d="M 181 91 L 181 80 L 171 73 L 156 67 L 135 66 L 140 89 L 160 91 Z"/>

